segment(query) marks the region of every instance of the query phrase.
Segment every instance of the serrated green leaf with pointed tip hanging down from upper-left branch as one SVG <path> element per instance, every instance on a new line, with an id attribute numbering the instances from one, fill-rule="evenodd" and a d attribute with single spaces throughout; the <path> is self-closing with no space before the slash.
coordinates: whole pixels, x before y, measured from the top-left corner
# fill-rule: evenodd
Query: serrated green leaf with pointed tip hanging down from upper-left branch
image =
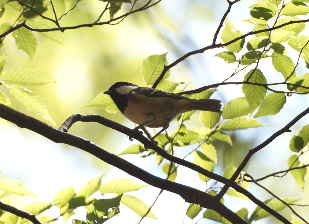
<path id="1" fill-rule="evenodd" d="M 12 36 L 15 38 L 16 48 L 26 52 L 34 63 L 38 46 L 35 35 L 25 27 L 20 27 L 12 32 Z"/>

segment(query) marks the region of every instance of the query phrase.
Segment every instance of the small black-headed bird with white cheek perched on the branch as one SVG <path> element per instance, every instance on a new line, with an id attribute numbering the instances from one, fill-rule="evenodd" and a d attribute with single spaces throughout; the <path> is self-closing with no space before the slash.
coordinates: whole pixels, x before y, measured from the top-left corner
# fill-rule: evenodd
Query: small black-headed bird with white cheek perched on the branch
<path id="1" fill-rule="evenodd" d="M 222 113 L 220 100 L 190 99 L 176 93 L 139 87 L 129 82 L 116 82 L 107 91 L 118 109 L 130 121 L 138 124 L 133 130 L 144 127 L 162 127 L 155 136 L 169 127 L 170 122 L 191 110 L 205 110 Z"/>

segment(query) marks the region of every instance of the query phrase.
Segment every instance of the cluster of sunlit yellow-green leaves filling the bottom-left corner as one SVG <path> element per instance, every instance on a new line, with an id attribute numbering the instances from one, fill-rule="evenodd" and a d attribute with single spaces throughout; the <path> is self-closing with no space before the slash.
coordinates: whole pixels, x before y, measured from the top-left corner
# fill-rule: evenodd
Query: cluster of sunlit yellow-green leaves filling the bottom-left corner
<path id="1" fill-rule="evenodd" d="M 138 197 L 124 194 L 131 191 L 137 191 L 148 185 L 141 185 L 125 178 L 113 179 L 101 184 L 102 177 L 103 175 L 91 179 L 77 192 L 73 186 L 70 186 L 56 193 L 52 202 L 33 201 L 28 205 L 24 205 L 22 210 L 36 215 L 37 219 L 42 223 L 54 222 L 60 217 L 62 217 L 62 220 L 66 223 L 67 220 L 75 214 L 74 209 L 84 207 L 85 214 L 87 213 L 87 220 L 74 220 L 75 223 L 80 224 L 103 223 L 120 212 L 121 204 L 127 206 L 140 216 L 143 216 L 146 211 L 148 211 L 149 207 Z M 4 177 L 0 178 L 1 200 L 6 204 L 9 204 L 11 194 L 36 197 L 32 191 L 22 185 L 18 180 Z M 105 198 L 105 194 L 115 194 L 115 197 Z M 95 197 L 93 197 L 93 195 L 95 195 Z M 51 217 L 42 214 L 44 211 L 52 207 L 58 207 L 58 217 Z M 48 212 L 45 212 L 45 214 L 46 213 L 48 214 Z M 147 214 L 147 217 L 154 219 L 157 218 L 152 211 Z M 31 222 L 25 218 L 20 218 L 15 214 L 0 209 L 0 223 L 28 224 Z"/>

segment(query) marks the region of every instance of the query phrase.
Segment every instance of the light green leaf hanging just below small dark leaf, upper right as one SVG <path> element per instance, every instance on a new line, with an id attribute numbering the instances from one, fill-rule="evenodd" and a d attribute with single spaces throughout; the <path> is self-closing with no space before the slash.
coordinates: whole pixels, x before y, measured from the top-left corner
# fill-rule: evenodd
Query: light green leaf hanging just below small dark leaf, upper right
<path id="1" fill-rule="evenodd" d="M 293 61 L 286 55 L 273 53 L 272 56 L 273 67 L 280 73 L 282 73 L 283 77 L 286 79 L 289 77 L 294 70 Z M 291 77 L 295 76 L 295 72 Z"/>

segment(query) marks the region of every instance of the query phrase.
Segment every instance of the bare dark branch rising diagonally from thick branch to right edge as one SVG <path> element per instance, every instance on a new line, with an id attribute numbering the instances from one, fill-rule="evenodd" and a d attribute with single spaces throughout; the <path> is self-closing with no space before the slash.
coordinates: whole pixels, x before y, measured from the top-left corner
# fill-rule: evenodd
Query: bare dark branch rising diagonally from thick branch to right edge
<path id="1" fill-rule="evenodd" d="M 286 126 L 281 128 L 279 131 L 274 133 L 272 136 L 270 136 L 267 140 L 265 140 L 260 145 L 256 146 L 253 149 L 250 149 L 247 156 L 243 159 L 239 167 L 234 172 L 233 176 L 226 182 L 226 184 L 222 187 L 221 191 L 215 196 L 218 198 L 222 198 L 223 195 L 226 193 L 227 189 L 234 183 L 234 181 L 237 179 L 240 172 L 243 170 L 243 168 L 247 165 L 248 161 L 250 160 L 251 156 L 253 156 L 254 153 L 259 151 L 260 149 L 267 146 L 269 143 L 271 143 L 274 139 L 276 139 L 279 135 L 282 135 L 285 132 L 290 132 L 290 127 L 292 127 L 300 118 L 307 115 L 309 113 L 309 107 L 304 110 L 302 113 L 298 114 L 293 120 L 291 120 Z"/>

